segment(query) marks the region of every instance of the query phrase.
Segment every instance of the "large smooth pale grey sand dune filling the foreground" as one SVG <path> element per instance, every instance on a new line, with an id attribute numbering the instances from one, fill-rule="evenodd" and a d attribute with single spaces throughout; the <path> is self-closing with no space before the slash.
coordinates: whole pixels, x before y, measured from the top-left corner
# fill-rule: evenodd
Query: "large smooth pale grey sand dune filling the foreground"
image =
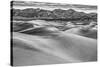
<path id="1" fill-rule="evenodd" d="M 14 65 L 37 65 L 97 60 L 95 39 L 64 32 L 56 36 L 13 33 Z"/>

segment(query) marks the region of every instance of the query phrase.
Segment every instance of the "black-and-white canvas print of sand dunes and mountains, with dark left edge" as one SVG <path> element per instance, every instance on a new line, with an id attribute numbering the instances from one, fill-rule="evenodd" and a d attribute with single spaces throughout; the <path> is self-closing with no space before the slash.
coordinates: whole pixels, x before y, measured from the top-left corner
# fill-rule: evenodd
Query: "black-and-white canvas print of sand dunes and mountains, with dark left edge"
<path id="1" fill-rule="evenodd" d="M 12 66 L 97 61 L 97 6 L 11 1 Z"/>

